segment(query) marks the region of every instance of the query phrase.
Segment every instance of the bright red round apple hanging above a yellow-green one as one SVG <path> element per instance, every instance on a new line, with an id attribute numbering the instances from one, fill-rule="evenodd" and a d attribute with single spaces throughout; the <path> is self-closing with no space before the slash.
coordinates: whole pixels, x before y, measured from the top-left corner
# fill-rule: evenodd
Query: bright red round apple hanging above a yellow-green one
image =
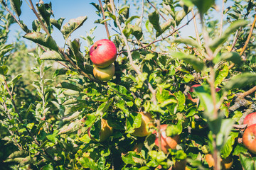
<path id="1" fill-rule="evenodd" d="M 98 40 L 90 48 L 90 60 L 99 68 L 108 67 L 116 59 L 117 47 L 110 40 Z"/>

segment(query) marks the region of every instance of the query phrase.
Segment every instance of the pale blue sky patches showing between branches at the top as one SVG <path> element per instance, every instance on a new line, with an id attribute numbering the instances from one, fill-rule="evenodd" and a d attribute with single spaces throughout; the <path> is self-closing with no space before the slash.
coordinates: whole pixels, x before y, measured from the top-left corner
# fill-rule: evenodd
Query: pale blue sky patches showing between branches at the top
<path id="1" fill-rule="evenodd" d="M 33 0 L 34 6 L 36 5 L 35 0 Z M 45 0 L 45 3 L 49 3 L 50 1 Z M 92 6 L 90 4 L 90 2 L 95 2 L 96 4 L 98 4 L 97 0 L 52 0 L 52 6 L 53 6 L 53 13 L 55 15 L 55 19 L 58 19 L 60 17 L 64 17 L 65 21 L 63 22 L 63 24 L 67 23 L 71 18 L 77 18 L 78 16 L 87 16 L 87 21 L 85 21 L 84 25 L 80 28 L 78 28 L 78 30 L 75 30 L 75 32 L 72 34 L 71 38 L 80 38 L 80 35 L 85 36 L 86 33 L 93 27 L 97 26 L 96 30 L 95 30 L 95 40 L 100 40 L 102 38 L 107 38 L 107 34 L 105 31 L 105 27 L 101 24 L 95 24 L 94 21 L 96 19 L 99 19 L 99 16 L 97 16 L 97 14 L 95 13 L 95 7 Z M 217 0 L 216 3 L 218 4 L 218 6 L 221 9 L 221 0 Z M 146 3 L 146 1 L 144 1 L 144 3 Z M 225 6 L 228 6 L 228 4 L 226 4 Z M 31 11 L 31 9 L 28 7 L 28 4 L 26 4 L 26 1 L 23 1 L 23 4 L 21 6 L 21 20 L 23 20 L 24 23 L 26 23 L 26 25 L 28 26 L 28 28 L 31 29 L 32 27 L 32 21 L 36 19 L 36 16 L 33 14 L 33 12 Z M 217 16 L 220 17 L 220 12 L 216 13 Z M 189 18 L 191 17 L 191 14 L 189 15 Z M 187 19 L 185 18 L 184 21 L 186 22 Z M 10 33 L 10 38 L 8 40 L 8 42 L 13 42 L 15 41 L 15 35 L 16 32 L 20 30 L 21 31 L 21 35 L 23 35 L 23 31 L 21 30 L 21 28 L 18 27 L 17 24 L 14 24 L 13 26 L 11 26 L 11 33 Z M 184 37 L 188 37 L 188 36 L 195 36 L 195 31 L 193 28 L 193 22 L 191 22 L 188 26 L 184 27 L 181 29 L 181 33 Z M 113 35 L 114 31 L 110 30 L 110 34 Z M 55 38 L 56 42 L 58 43 L 58 45 L 60 47 L 63 47 L 64 45 L 64 39 L 63 36 L 61 35 L 61 33 L 58 31 L 58 29 L 55 28 L 54 32 L 53 32 L 53 38 Z M 82 45 L 86 45 L 85 40 L 82 40 L 80 38 L 80 42 L 82 42 Z M 29 42 L 26 41 L 26 43 L 28 44 L 28 47 L 31 45 L 33 46 L 33 42 Z"/>

